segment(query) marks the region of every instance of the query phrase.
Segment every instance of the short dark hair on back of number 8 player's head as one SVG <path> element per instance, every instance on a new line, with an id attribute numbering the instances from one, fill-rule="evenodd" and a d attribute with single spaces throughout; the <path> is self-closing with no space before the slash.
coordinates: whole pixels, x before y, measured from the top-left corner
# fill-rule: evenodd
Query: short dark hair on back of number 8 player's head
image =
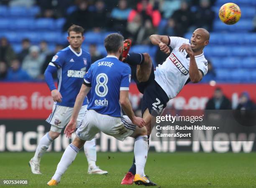
<path id="1" fill-rule="evenodd" d="M 123 35 L 119 33 L 112 33 L 104 40 L 104 46 L 107 53 L 116 53 L 120 46 L 123 46 Z"/>

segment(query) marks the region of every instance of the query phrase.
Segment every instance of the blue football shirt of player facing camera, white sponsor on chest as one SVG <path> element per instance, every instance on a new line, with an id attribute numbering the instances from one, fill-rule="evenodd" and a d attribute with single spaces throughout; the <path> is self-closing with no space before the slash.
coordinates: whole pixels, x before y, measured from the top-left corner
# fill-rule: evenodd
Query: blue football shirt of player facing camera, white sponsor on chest
<path id="1" fill-rule="evenodd" d="M 79 93 L 84 74 L 90 68 L 91 56 L 82 50 L 76 53 L 71 46 L 59 51 L 51 60 L 58 68 L 58 91 L 62 95 L 62 101 L 57 105 L 74 107 Z M 83 105 L 87 105 L 87 98 Z"/>

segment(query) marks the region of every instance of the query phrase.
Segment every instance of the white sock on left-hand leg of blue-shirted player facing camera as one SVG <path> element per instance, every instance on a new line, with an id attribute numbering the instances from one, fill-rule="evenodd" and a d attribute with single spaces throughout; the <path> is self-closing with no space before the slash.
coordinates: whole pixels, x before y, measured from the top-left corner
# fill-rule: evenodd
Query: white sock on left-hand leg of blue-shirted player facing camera
<path id="1" fill-rule="evenodd" d="M 51 145 L 51 143 L 53 142 L 54 140 L 51 139 L 51 137 L 49 136 L 49 132 L 46 133 L 46 135 L 44 135 L 37 148 L 36 148 L 36 153 L 33 157 L 33 161 L 35 163 L 40 163 L 40 159 L 41 157 L 44 155 L 44 153 L 46 152 L 46 150 L 49 148 L 49 145 Z"/>

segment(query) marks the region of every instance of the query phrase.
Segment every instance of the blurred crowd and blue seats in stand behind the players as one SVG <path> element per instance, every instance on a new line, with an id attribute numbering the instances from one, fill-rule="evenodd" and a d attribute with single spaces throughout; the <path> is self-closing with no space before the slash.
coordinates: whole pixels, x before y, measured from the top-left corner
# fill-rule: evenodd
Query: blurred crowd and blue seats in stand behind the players
<path id="1" fill-rule="evenodd" d="M 120 32 L 133 40 L 131 51 L 149 53 L 154 66 L 166 55 L 150 35 L 190 38 L 195 28 L 206 28 L 209 71 L 202 82 L 256 82 L 256 2 L 232 2 L 242 11 L 236 25 L 218 19 L 225 0 L 1 0 L 0 80 L 43 80 L 51 58 L 68 45 L 67 28 L 77 24 L 86 30 L 83 48 L 92 62 L 106 55 L 105 36 Z"/>

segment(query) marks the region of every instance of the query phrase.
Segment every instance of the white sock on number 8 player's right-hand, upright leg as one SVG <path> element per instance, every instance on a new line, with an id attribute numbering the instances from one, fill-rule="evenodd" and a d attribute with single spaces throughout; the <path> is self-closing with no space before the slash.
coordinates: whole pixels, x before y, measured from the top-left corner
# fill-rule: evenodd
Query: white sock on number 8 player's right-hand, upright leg
<path id="1" fill-rule="evenodd" d="M 148 137 L 138 136 L 134 143 L 136 174 L 145 176 L 144 167 L 148 156 Z"/>

